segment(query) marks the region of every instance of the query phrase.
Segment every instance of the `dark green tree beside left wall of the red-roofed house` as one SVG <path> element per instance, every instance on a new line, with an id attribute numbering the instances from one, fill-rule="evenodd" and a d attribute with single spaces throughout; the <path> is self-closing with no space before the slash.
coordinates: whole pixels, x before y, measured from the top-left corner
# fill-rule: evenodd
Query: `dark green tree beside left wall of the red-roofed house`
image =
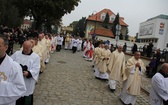
<path id="1" fill-rule="evenodd" d="M 82 19 L 80 19 L 77 24 L 75 25 L 75 27 L 73 28 L 73 34 L 80 36 L 80 37 L 84 37 L 85 36 L 85 22 L 86 22 L 86 17 L 82 17 Z"/>

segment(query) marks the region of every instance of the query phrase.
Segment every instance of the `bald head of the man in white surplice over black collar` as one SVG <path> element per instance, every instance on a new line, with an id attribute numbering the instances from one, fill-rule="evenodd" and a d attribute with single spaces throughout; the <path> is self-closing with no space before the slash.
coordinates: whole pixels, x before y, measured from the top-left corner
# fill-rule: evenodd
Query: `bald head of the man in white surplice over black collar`
<path id="1" fill-rule="evenodd" d="M 29 54 L 32 50 L 32 43 L 30 41 L 25 41 L 23 43 L 23 52 L 24 54 Z"/>

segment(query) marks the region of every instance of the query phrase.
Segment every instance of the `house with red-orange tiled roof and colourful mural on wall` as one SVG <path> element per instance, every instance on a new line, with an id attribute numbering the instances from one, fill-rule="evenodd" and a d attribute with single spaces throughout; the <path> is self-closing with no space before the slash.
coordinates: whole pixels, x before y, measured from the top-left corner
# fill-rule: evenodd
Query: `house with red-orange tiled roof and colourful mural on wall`
<path id="1" fill-rule="evenodd" d="M 102 24 L 107 13 L 109 14 L 109 28 L 105 29 L 103 28 Z M 92 34 L 96 34 L 98 37 L 114 38 L 111 27 L 115 17 L 116 15 L 110 9 L 103 9 L 95 14 L 89 15 L 89 17 L 86 19 L 85 37 L 90 38 Z M 123 17 L 119 18 L 119 23 L 121 25 L 121 33 L 123 36 L 125 36 L 128 25 L 124 22 Z"/>

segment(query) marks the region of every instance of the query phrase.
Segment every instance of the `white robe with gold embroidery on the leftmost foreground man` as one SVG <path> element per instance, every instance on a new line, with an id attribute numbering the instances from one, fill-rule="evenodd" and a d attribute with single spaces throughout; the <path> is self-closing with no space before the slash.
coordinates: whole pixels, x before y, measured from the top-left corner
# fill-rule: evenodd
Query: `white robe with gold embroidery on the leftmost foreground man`
<path id="1" fill-rule="evenodd" d="M 21 66 L 5 55 L 0 63 L 0 105 L 15 105 L 26 92 Z"/>

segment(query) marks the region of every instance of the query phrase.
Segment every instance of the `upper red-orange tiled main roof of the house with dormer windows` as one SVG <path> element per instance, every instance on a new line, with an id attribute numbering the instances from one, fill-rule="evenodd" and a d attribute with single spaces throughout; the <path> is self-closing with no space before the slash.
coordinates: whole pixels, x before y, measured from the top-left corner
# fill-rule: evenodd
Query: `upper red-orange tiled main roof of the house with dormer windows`
<path id="1" fill-rule="evenodd" d="M 102 13 L 108 13 L 109 16 L 111 16 L 112 14 L 114 14 L 110 9 L 103 9 L 103 10 L 101 10 L 100 12 L 97 12 L 97 13 L 94 14 L 94 15 L 89 15 L 89 17 L 87 18 L 87 20 L 103 22 L 103 20 L 100 19 L 100 15 L 101 15 Z M 115 14 L 114 14 L 114 15 L 115 15 Z M 97 18 L 97 19 L 96 19 L 96 18 Z M 120 17 L 120 18 L 119 18 L 120 25 L 122 25 L 122 26 L 128 26 L 123 20 L 124 20 L 123 17 Z M 112 23 L 112 22 L 110 22 L 110 23 Z"/>

